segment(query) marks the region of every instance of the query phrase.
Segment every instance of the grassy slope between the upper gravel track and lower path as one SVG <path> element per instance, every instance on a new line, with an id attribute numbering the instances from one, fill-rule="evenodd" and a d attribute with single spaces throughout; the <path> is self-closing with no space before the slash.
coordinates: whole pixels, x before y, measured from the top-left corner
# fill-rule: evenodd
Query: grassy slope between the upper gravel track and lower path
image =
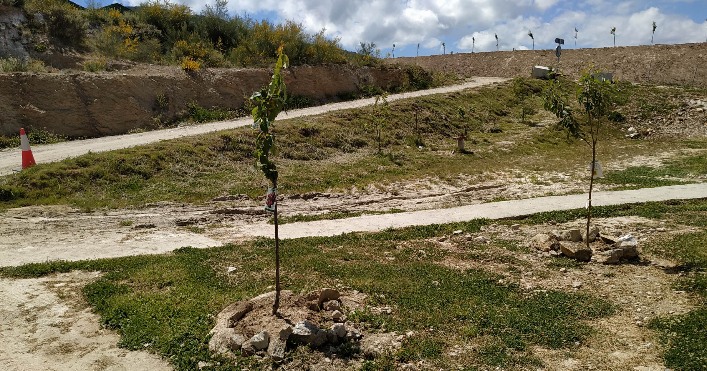
<path id="1" fill-rule="evenodd" d="M 283 193 L 326 192 L 367 187 L 382 179 L 419 179 L 431 173 L 477 175 L 503 163 L 503 158 L 576 152 L 579 143 L 552 127 L 528 134 L 530 138 L 518 142 L 509 153 L 450 156 L 427 148 L 406 148 L 407 139 L 414 136 L 413 103 L 420 107 L 419 129 L 425 142 L 434 149 L 451 151 L 455 141 L 449 133 L 463 132 L 468 124 L 457 117 L 459 107 L 474 105 L 481 124 L 488 120 L 503 127 L 503 134 L 487 133 L 483 125 L 472 128 L 470 134 L 477 139 L 493 142 L 527 131 L 515 117 L 512 100 L 501 84 L 396 101 L 391 125 L 382 133 L 385 152 L 393 158 L 375 155 L 375 132 L 366 130 L 370 107 L 276 122 L 275 130 L 287 133 L 278 135 L 276 141 L 279 188 Z M 539 106 L 539 98 L 530 99 L 529 104 Z M 190 110 L 194 122 L 224 118 L 211 117 L 208 110 L 195 105 Z M 480 141 L 478 146 L 491 144 Z M 255 136 L 250 128 L 242 128 L 38 164 L 0 178 L 0 187 L 23 190 L 2 206 L 76 204 L 91 209 L 153 201 L 203 202 L 234 192 L 260 195 L 264 192 L 262 177 L 252 172 L 254 148 Z"/>

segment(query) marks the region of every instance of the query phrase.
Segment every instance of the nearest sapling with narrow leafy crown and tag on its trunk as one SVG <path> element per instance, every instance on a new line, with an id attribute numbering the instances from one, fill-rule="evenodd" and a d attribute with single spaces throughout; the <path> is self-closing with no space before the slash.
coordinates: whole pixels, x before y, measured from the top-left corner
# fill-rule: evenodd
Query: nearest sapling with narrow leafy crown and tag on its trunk
<path id="1" fill-rule="evenodd" d="M 253 108 L 252 130 L 257 134 L 255 141 L 255 166 L 263 172 L 265 177 L 271 182 L 274 194 L 268 194 L 266 199 L 272 208 L 275 222 L 275 301 L 272 305 L 272 314 L 276 314 L 280 306 L 280 237 L 278 235 L 277 224 L 277 166 L 273 163 L 269 155 L 277 155 L 275 147 L 275 134 L 271 131 L 272 124 L 277 115 L 286 110 L 287 87 L 285 78 L 280 72 L 290 64 L 289 59 L 283 51 L 283 45 L 277 50 L 278 58 L 272 79 L 267 88 L 253 93 L 250 97 L 255 107 Z M 269 208 L 268 208 L 269 210 Z"/>

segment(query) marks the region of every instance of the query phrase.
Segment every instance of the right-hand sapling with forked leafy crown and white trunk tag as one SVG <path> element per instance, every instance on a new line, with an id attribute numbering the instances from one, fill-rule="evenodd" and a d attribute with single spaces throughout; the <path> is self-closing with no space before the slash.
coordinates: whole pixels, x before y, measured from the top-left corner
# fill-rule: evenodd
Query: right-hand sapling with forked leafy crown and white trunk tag
<path id="1" fill-rule="evenodd" d="M 592 188 L 594 187 L 595 163 L 597 161 L 597 142 L 599 141 L 602 119 L 612 107 L 612 95 L 617 93 L 617 88 L 608 80 L 595 77 L 601 73 L 594 65 L 582 71 L 576 90 L 577 102 L 580 110 L 575 111 L 569 107 L 569 94 L 563 90 L 559 80 L 551 80 L 544 88 L 542 102 L 545 110 L 552 112 L 560 119 L 559 126 L 568 130 L 568 136 L 573 136 L 584 141 L 592 148 L 592 163 L 590 163 L 589 199 L 587 200 L 587 230 L 592 220 Z M 589 248 L 589 239 L 586 240 Z"/>

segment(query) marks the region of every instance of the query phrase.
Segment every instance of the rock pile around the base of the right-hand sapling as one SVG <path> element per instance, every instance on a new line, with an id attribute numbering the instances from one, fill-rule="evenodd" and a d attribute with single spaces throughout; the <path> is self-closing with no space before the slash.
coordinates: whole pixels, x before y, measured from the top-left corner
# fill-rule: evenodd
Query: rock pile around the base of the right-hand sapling
<path id="1" fill-rule="evenodd" d="M 590 247 L 587 247 L 585 240 L 589 240 Z M 588 235 L 579 229 L 540 233 L 533 237 L 530 247 L 544 256 L 564 256 L 597 264 L 614 264 L 638 257 L 635 241 L 624 241 L 616 233 L 604 234 L 596 226 L 590 227 Z"/>

